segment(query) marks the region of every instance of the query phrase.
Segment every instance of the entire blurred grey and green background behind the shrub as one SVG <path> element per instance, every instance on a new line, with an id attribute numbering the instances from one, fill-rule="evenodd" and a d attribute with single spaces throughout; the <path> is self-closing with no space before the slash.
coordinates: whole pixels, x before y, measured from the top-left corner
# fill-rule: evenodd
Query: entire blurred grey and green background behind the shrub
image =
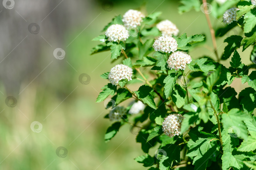
<path id="1" fill-rule="evenodd" d="M 135 141 L 137 132 L 129 125 L 104 142 L 111 122 L 104 119 L 109 112 L 104 102 L 95 103 L 107 84 L 99 75 L 122 58 L 111 62 L 110 52 L 90 56 L 98 44 L 91 40 L 103 34 L 113 17 L 129 9 L 144 14 L 162 11 L 160 19 L 171 20 L 180 34 L 206 35 L 205 44 L 190 51 L 192 58 L 215 59 L 204 13 L 179 14 L 179 5 L 176 0 L 4 0 L 0 5 L 1 169 L 146 169 L 133 160 L 143 152 Z M 211 21 L 215 29 L 223 26 L 221 18 L 211 16 Z M 241 31 L 237 28 L 228 36 L 234 33 Z M 219 55 L 226 37 L 217 38 Z M 54 57 L 56 48 L 62 49 L 57 50 L 62 58 Z M 243 63 L 251 64 L 250 52 L 248 48 L 241 55 Z M 229 66 L 229 60 L 222 64 Z M 130 87 L 137 90 L 140 85 Z M 231 86 L 237 92 L 247 87 L 240 79 Z M 156 149 L 149 153 L 154 155 Z"/>

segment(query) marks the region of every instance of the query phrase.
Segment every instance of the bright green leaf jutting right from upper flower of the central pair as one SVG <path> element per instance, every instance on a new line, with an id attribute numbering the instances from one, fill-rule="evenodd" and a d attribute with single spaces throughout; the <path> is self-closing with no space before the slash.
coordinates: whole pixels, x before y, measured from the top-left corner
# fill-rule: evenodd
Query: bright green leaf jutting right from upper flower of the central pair
<path id="1" fill-rule="evenodd" d="M 184 33 L 177 39 L 178 50 L 188 50 L 192 47 L 191 44 L 204 41 L 204 37 L 205 36 L 201 34 L 196 34 L 194 36 L 192 35 L 187 37 L 187 34 Z"/>

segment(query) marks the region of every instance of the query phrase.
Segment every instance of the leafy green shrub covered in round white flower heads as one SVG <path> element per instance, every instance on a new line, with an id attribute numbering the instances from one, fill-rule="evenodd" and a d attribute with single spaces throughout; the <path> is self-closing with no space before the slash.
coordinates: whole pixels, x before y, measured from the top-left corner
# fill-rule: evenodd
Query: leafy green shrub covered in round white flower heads
<path id="1" fill-rule="evenodd" d="M 96 102 L 112 96 L 105 118 L 113 124 L 105 141 L 129 124 L 133 134 L 133 128 L 139 129 L 136 141 L 145 152 L 135 161 L 150 170 L 256 169 L 255 0 L 180 2 L 180 13 L 194 8 L 205 14 L 216 60 L 190 55 L 192 48 L 204 44 L 205 36 L 179 35 L 174 23 L 160 19 L 161 12 L 147 16 L 128 10 L 113 18 L 104 33 L 93 39 L 101 44 L 91 51 L 110 51 L 111 60 L 122 59 L 101 74 L 108 84 Z M 210 13 L 223 19 L 222 28 L 213 29 Z M 243 36 L 228 36 L 224 51 L 217 52 L 216 38 L 234 27 Z M 250 56 L 237 52 L 250 46 Z M 241 56 L 252 63 L 241 63 Z M 227 59 L 231 61 L 224 66 Z M 249 87 L 236 92 L 230 85 L 237 79 Z M 136 82 L 141 86 L 130 89 Z M 122 103 L 127 99 L 133 100 L 128 106 Z"/>

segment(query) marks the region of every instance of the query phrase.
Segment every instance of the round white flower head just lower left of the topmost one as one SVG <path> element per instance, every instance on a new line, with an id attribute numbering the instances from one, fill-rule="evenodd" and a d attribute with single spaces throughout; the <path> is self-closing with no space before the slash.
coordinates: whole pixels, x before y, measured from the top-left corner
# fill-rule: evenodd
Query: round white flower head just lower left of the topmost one
<path id="1" fill-rule="evenodd" d="M 123 25 L 110 25 L 105 35 L 108 41 L 125 41 L 129 37 L 129 31 Z"/>

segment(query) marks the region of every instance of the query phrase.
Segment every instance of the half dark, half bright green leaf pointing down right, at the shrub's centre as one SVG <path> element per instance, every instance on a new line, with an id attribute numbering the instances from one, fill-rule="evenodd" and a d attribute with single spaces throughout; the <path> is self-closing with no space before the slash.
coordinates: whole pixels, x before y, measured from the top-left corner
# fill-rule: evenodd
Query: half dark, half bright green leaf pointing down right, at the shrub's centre
<path id="1" fill-rule="evenodd" d="M 140 86 L 138 91 L 134 93 L 138 96 L 138 99 L 142 100 L 143 103 L 148 104 L 153 109 L 156 109 L 155 101 L 150 92 L 154 91 L 154 89 L 147 85 Z"/>

